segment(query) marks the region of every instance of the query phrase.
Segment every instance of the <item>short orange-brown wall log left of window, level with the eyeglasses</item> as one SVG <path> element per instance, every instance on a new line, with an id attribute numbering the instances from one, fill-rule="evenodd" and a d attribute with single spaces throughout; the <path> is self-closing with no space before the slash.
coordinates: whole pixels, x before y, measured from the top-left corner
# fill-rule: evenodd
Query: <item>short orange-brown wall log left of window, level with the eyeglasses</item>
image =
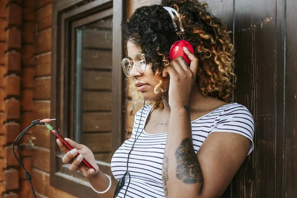
<path id="1" fill-rule="evenodd" d="M 50 76 L 51 53 L 35 57 L 35 76 Z"/>

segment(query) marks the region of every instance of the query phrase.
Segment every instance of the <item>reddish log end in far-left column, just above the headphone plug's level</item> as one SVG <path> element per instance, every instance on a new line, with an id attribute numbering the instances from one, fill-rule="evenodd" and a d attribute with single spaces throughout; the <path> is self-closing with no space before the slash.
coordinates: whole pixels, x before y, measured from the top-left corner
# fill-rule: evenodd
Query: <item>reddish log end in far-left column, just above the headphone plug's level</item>
<path id="1" fill-rule="evenodd" d="M 20 101 L 17 99 L 6 99 L 4 101 L 4 121 L 20 118 Z"/>

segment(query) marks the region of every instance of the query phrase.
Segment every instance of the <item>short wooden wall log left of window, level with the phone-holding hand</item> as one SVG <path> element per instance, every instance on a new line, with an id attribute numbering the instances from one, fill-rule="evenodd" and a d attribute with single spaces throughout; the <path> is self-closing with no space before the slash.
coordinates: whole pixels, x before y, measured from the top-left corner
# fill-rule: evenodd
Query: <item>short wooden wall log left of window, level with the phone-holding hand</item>
<path id="1" fill-rule="evenodd" d="M 38 147 L 33 151 L 32 165 L 36 168 L 49 172 L 49 149 Z"/>

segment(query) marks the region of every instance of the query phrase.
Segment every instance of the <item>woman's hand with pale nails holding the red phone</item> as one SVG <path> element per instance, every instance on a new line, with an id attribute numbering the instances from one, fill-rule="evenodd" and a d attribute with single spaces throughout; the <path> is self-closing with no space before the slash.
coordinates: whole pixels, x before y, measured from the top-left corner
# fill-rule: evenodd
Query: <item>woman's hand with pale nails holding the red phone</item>
<path id="1" fill-rule="evenodd" d="M 90 178 L 96 176 L 99 172 L 99 167 L 95 162 L 95 157 L 93 152 L 90 148 L 85 145 L 78 144 L 69 138 L 65 138 L 65 140 L 74 148 L 70 150 L 67 148 L 62 141 L 57 139 L 57 144 L 61 148 L 61 150 L 65 153 L 62 158 L 64 164 L 70 164 L 69 170 L 70 171 L 77 171 L 79 170 L 84 177 Z M 77 152 L 80 153 L 77 156 Z M 96 169 L 89 168 L 86 164 L 82 163 L 83 159 L 86 159 L 90 164 Z"/>

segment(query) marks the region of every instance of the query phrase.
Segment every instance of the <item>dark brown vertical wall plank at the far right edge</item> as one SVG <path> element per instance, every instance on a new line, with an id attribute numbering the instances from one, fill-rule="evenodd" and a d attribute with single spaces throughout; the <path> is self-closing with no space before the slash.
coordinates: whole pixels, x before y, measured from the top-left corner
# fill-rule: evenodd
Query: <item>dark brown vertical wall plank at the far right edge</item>
<path id="1" fill-rule="evenodd" d="M 285 185 L 286 197 L 297 195 L 297 27 L 294 18 L 297 17 L 295 0 L 287 0 L 287 49 L 286 49 L 286 99 L 285 99 Z"/>

